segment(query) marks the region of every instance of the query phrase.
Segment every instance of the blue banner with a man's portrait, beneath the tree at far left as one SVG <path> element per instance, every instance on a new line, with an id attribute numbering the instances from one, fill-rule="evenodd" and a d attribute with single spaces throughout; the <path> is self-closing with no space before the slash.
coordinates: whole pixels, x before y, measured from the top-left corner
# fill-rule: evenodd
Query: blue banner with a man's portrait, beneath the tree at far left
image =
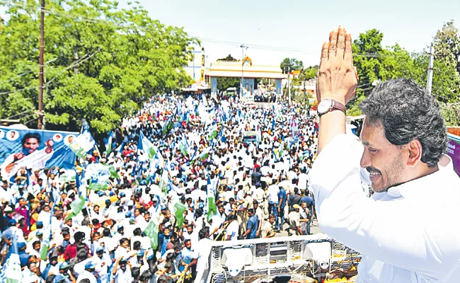
<path id="1" fill-rule="evenodd" d="M 78 132 L 0 127 L 0 173 L 4 179 L 16 175 L 20 168 L 30 170 L 74 168 L 75 154 L 71 144 Z"/>

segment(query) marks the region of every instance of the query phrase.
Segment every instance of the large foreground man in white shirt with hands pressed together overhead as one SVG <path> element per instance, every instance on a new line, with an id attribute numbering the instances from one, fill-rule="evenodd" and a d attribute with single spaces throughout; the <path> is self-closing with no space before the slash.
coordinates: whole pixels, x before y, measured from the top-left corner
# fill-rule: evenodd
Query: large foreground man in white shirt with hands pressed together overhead
<path id="1" fill-rule="evenodd" d="M 351 50 L 340 26 L 321 52 L 311 172 L 321 231 L 363 254 L 357 282 L 458 282 L 460 228 L 450 219 L 460 216 L 460 178 L 443 155 L 439 105 L 413 81 L 385 81 L 360 104 L 362 143 L 345 134 L 344 105 L 357 86 Z M 362 192 L 361 168 L 372 198 Z"/>

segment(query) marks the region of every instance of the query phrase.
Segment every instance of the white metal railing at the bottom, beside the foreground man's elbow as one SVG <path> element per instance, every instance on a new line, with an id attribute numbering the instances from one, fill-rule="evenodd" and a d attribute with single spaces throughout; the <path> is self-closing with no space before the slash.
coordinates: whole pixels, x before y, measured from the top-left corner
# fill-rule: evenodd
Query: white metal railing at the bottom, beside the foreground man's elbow
<path id="1" fill-rule="evenodd" d="M 322 243 L 321 260 L 312 255 L 313 245 Z M 328 244 L 325 244 L 328 243 Z M 312 245 L 311 245 L 312 244 Z M 309 236 L 289 236 L 279 238 L 257 238 L 238 241 L 215 241 L 210 243 L 207 262 L 197 270 L 195 282 L 253 282 L 266 275 L 297 274 L 315 279 L 337 275 L 351 277 L 357 274 L 357 264 L 361 261 L 360 253 L 345 247 L 325 234 Z M 329 246 L 328 246 L 329 245 Z M 324 248 L 328 250 L 325 256 Z M 226 266 L 225 250 L 238 250 L 241 260 L 247 254 L 246 264 L 232 276 Z M 313 253 L 314 254 L 314 253 Z M 239 258 L 238 258 L 239 259 Z"/>

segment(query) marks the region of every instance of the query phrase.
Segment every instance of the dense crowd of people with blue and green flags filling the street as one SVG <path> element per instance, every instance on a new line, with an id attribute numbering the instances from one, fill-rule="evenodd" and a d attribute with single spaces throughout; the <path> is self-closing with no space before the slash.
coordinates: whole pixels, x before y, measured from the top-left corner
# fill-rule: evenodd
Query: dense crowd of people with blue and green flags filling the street
<path id="1" fill-rule="evenodd" d="M 210 241 L 308 235 L 310 111 L 155 96 L 75 171 L 21 168 L 0 184 L 0 279 L 193 282 Z M 116 171 L 103 190 L 85 177 L 96 163 Z"/>

